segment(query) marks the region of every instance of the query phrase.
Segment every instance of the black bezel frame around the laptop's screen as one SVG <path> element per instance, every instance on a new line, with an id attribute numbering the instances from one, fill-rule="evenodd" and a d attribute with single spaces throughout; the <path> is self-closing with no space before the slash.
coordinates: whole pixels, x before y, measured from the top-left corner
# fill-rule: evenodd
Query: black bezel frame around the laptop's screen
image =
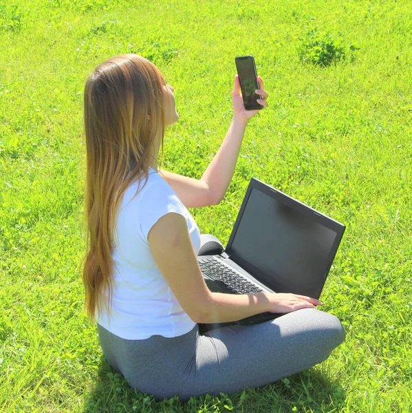
<path id="1" fill-rule="evenodd" d="M 314 287 L 314 293 L 312 294 L 312 296 L 314 298 L 318 299 L 320 297 L 321 293 L 322 293 L 323 286 L 325 286 L 327 275 L 329 274 L 330 268 L 332 266 L 332 263 L 334 262 L 334 258 L 336 256 L 337 251 L 338 251 L 340 242 L 343 238 L 343 234 L 345 233 L 345 229 L 346 229 L 345 224 L 342 224 L 341 222 L 338 222 L 338 221 L 330 218 L 329 216 L 327 216 L 327 215 L 325 215 L 325 214 L 323 214 L 319 211 L 316 211 L 316 209 L 313 209 L 313 208 L 307 206 L 306 204 L 303 204 L 303 202 L 300 202 L 300 201 L 290 197 L 289 195 L 286 195 L 285 193 L 279 191 L 279 189 L 275 189 L 275 188 L 271 187 L 270 185 L 265 184 L 264 182 L 262 182 L 261 180 L 259 180 L 257 178 L 251 178 L 248 189 L 247 189 L 246 194 L 243 198 L 241 208 L 240 208 L 239 213 L 237 215 L 235 225 L 233 226 L 232 233 L 230 234 L 230 238 L 229 238 L 229 241 L 228 241 L 228 245 L 226 246 L 225 252 L 230 257 L 230 260 L 232 260 L 233 262 L 235 262 L 236 264 L 238 264 L 239 266 L 244 268 L 249 273 L 252 273 L 254 275 L 254 277 L 256 277 L 259 280 L 261 280 L 260 275 L 261 275 L 262 271 L 260 271 L 256 267 L 254 267 L 252 264 L 246 262 L 241 257 L 237 256 L 236 253 L 234 253 L 232 251 L 232 248 L 231 248 L 233 240 L 235 240 L 235 235 L 237 233 L 237 229 L 239 227 L 241 217 L 243 215 L 244 210 L 246 209 L 246 204 L 248 203 L 250 193 L 252 193 L 252 189 L 257 189 L 258 191 L 261 191 L 261 192 L 265 193 L 266 195 L 269 195 L 271 198 L 274 198 L 278 202 L 281 202 L 282 204 L 285 204 L 287 207 L 290 207 L 290 208 L 298 211 L 299 213 L 301 213 L 301 214 L 303 214 L 307 217 L 312 218 L 314 221 L 318 222 L 319 224 L 322 224 L 326 228 L 331 229 L 332 231 L 336 232 L 336 237 L 335 237 L 334 243 L 332 244 L 331 251 L 330 251 L 330 253 L 327 257 L 328 264 L 325 267 L 325 273 L 324 273 L 322 279 L 318 280 L 319 284 Z M 265 285 L 266 284 L 267 283 L 265 283 Z M 268 288 L 271 288 L 271 287 L 268 286 Z M 281 293 L 281 292 L 295 293 L 294 291 L 276 291 L 276 292 L 279 292 L 279 293 Z M 298 292 L 296 292 L 296 293 L 298 293 Z"/>

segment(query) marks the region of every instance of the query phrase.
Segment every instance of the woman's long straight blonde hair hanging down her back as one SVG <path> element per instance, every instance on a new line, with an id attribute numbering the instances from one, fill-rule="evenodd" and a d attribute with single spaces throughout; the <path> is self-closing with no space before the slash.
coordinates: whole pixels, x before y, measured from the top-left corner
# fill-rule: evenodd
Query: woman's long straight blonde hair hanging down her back
<path id="1" fill-rule="evenodd" d="M 111 311 L 114 230 L 124 191 L 149 177 L 156 136 L 163 138 L 164 87 L 158 67 L 121 54 L 96 67 L 85 85 L 87 255 L 85 311 Z M 144 186 L 144 185 L 143 185 Z M 140 188 L 141 189 L 141 188 Z"/>

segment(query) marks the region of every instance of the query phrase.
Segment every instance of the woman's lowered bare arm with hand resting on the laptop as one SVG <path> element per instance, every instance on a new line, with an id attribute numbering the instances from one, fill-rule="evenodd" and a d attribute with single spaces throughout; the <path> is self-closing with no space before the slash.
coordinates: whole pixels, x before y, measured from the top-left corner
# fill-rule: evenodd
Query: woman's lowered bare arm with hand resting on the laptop
<path id="1" fill-rule="evenodd" d="M 293 294 L 211 293 L 197 263 L 186 220 L 179 214 L 160 218 L 149 231 L 148 241 L 177 301 L 197 323 L 237 321 L 266 311 L 288 313 L 319 304 L 316 299 Z"/>

